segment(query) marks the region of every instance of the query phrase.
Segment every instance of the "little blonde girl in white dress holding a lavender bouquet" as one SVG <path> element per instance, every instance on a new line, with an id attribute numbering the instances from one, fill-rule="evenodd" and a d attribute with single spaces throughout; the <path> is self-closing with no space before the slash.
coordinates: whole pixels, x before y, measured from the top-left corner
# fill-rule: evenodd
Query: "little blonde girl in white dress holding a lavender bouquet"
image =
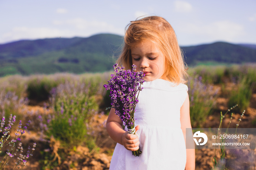
<path id="1" fill-rule="evenodd" d="M 117 142 L 110 170 L 195 169 L 195 150 L 185 147 L 186 128 L 191 128 L 187 76 L 172 26 L 159 16 L 132 21 L 126 29 L 118 65 L 143 71 L 143 90 L 136 105 L 136 135 L 112 108 L 106 123 Z M 132 151 L 140 148 L 139 157 Z"/>

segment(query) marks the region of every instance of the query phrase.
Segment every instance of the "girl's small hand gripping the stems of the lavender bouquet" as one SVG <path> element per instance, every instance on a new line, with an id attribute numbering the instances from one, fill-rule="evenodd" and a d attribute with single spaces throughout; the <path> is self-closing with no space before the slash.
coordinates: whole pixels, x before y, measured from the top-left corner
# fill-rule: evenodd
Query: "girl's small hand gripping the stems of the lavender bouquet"
<path id="1" fill-rule="evenodd" d="M 135 132 L 139 130 L 140 126 L 135 127 Z M 122 137 L 124 147 L 129 151 L 136 151 L 139 149 L 139 137 L 135 134 L 129 134 L 129 132 L 125 132 Z"/>

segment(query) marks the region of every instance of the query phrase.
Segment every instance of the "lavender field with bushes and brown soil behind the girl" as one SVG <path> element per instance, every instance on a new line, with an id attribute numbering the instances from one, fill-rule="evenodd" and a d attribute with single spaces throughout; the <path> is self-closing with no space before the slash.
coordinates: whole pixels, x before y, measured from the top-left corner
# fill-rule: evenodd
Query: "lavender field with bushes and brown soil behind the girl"
<path id="1" fill-rule="evenodd" d="M 188 72 L 192 127 L 218 128 L 220 112 L 238 104 L 230 127 L 245 110 L 239 128 L 256 128 L 256 65 L 197 66 Z M 108 169 L 115 142 L 105 130 L 110 98 L 103 84 L 110 74 L 1 77 L 0 169 Z M 256 168 L 256 149 L 238 153 L 236 161 L 232 155 L 226 151 L 223 165 L 214 150 L 196 150 L 196 169 Z"/>

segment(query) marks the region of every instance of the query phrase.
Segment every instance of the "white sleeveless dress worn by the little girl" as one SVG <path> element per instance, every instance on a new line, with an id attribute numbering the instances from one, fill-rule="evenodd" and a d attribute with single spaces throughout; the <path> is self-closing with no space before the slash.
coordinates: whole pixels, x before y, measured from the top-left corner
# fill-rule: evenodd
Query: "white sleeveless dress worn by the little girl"
<path id="1" fill-rule="evenodd" d="M 157 79 L 145 81 L 142 87 L 135 112 L 142 154 L 135 157 L 117 143 L 110 170 L 184 170 L 186 146 L 180 108 L 188 95 L 187 85 L 173 86 L 172 82 Z"/>

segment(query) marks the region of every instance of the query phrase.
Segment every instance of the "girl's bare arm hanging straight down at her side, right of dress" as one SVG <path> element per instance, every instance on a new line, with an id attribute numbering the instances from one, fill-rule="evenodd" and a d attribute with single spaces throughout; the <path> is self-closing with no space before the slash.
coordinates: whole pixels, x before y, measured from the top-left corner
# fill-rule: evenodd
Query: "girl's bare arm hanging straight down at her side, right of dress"
<path id="1" fill-rule="evenodd" d="M 184 104 L 180 109 L 180 122 L 181 129 L 184 135 L 184 139 L 186 142 L 186 128 L 192 128 L 190 122 L 190 114 L 189 114 L 189 97 L 185 99 Z M 192 133 L 192 129 L 191 129 Z M 195 169 L 195 149 L 187 149 L 187 163 L 185 170 L 194 170 Z"/>

